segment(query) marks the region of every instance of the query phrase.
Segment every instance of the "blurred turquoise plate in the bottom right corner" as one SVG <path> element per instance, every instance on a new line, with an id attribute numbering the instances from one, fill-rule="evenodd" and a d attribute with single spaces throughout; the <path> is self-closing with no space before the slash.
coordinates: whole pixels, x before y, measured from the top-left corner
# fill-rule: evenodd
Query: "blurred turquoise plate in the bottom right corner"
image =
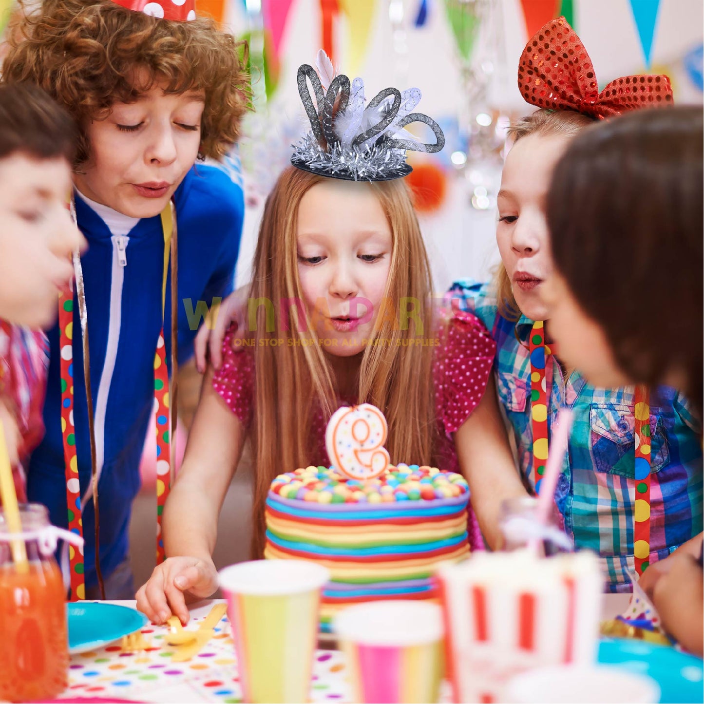
<path id="1" fill-rule="evenodd" d="M 695 655 L 646 641 L 603 638 L 599 662 L 647 674 L 660 685 L 660 701 L 698 703 L 704 699 L 703 662 Z"/>

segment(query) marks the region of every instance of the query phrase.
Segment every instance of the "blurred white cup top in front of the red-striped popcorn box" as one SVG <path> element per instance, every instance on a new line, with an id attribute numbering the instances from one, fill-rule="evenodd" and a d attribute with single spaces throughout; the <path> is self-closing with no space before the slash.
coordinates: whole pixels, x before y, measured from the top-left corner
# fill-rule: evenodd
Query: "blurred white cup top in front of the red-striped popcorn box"
<path id="1" fill-rule="evenodd" d="M 646 675 L 618 667 L 541 667 L 512 679 L 503 701 L 511 704 L 655 704 L 660 687 Z"/>

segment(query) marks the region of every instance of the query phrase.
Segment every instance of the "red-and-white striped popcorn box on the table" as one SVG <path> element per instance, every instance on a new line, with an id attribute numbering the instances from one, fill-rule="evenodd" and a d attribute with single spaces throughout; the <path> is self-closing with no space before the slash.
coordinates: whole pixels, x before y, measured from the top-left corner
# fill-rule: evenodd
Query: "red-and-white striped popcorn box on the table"
<path id="1" fill-rule="evenodd" d="M 509 679 L 596 662 L 602 577 L 592 553 L 476 553 L 438 574 L 455 702 L 496 702 Z"/>

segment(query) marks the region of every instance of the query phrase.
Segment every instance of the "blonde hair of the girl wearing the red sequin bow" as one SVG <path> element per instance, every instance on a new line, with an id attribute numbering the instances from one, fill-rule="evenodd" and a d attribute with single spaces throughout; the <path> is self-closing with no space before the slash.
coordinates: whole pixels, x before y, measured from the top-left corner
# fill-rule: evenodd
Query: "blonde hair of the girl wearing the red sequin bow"
<path id="1" fill-rule="evenodd" d="M 513 144 L 519 139 L 532 135 L 553 136 L 561 134 L 564 137 L 576 137 L 584 127 L 593 125 L 595 121 L 589 115 L 582 115 L 582 113 L 572 110 L 541 108 L 514 122 L 508 128 L 508 137 L 513 139 Z M 499 263 L 494 273 L 494 289 L 496 289 L 498 312 L 506 320 L 518 320 L 521 317 L 521 311 L 513 296 L 511 279 L 508 278 L 503 263 Z"/>

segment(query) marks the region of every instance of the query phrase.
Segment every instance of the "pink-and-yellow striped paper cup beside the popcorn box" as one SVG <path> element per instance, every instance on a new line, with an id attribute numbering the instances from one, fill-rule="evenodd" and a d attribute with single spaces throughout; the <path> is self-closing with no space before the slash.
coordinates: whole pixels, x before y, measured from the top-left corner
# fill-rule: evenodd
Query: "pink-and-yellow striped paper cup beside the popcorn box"
<path id="1" fill-rule="evenodd" d="M 436 702 L 442 677 L 442 614 L 422 601 L 372 601 L 334 620 L 352 700 Z"/>

